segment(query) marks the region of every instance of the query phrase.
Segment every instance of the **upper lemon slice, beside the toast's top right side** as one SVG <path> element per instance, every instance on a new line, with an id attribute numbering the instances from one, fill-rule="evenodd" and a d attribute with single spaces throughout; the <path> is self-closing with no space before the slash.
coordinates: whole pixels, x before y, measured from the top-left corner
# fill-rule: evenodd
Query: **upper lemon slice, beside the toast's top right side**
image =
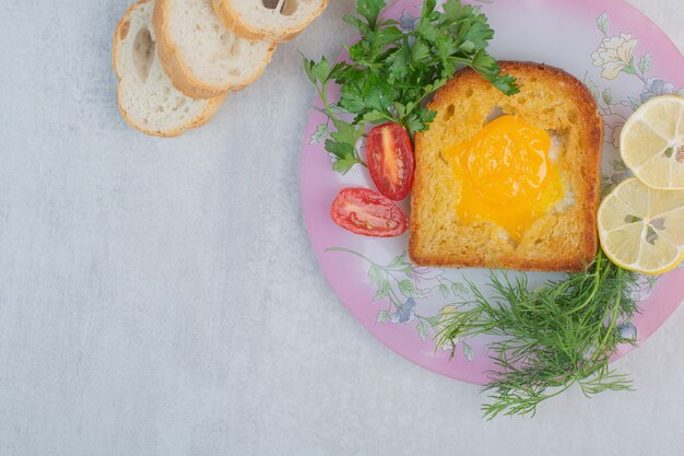
<path id="1" fill-rule="evenodd" d="M 639 106 L 623 127 L 620 150 L 644 184 L 684 190 L 684 97 L 657 96 Z"/>

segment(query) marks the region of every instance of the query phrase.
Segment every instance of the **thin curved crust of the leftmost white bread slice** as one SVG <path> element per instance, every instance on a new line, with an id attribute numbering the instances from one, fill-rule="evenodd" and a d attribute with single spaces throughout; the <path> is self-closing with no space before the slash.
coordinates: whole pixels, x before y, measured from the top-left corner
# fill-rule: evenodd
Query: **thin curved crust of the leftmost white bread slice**
<path id="1" fill-rule="evenodd" d="M 149 1 L 152 0 L 138 0 L 135 3 L 131 4 L 128 10 L 126 10 L 126 12 L 123 13 L 123 15 L 121 16 L 116 32 L 114 34 L 114 45 L 111 47 L 111 60 L 113 60 L 113 67 L 114 67 L 114 72 L 117 77 L 117 81 L 118 81 L 118 87 L 117 87 L 117 105 L 119 106 L 119 112 L 121 113 L 121 117 L 123 117 L 123 120 L 126 120 L 126 122 L 131 126 L 133 129 L 140 131 L 141 133 L 145 133 L 145 135 L 150 135 L 150 136 L 156 136 L 156 137 L 161 137 L 161 138 L 172 138 L 172 137 L 177 137 L 179 135 L 182 135 L 185 131 L 187 131 L 188 129 L 191 128 L 197 128 L 200 127 L 204 124 L 207 124 L 215 114 L 216 110 L 219 110 L 219 107 L 221 107 L 221 105 L 223 104 L 223 102 L 225 101 L 226 94 L 222 94 L 219 95 L 214 98 L 208 100 L 207 101 L 207 106 L 204 107 L 204 110 L 199 115 L 196 116 L 190 122 L 175 128 L 173 130 L 149 130 L 145 129 L 143 127 L 141 127 L 140 125 L 135 124 L 130 116 L 128 115 L 128 113 L 126 112 L 126 109 L 123 108 L 122 104 L 121 104 L 121 81 L 122 81 L 122 75 L 119 73 L 118 70 L 118 65 L 117 65 L 117 58 L 119 55 L 119 42 L 123 40 L 126 38 L 126 36 L 128 35 L 128 33 L 130 33 L 130 15 L 131 13 L 139 8 L 141 4 L 148 3 Z M 155 36 L 156 37 L 156 36 Z"/>

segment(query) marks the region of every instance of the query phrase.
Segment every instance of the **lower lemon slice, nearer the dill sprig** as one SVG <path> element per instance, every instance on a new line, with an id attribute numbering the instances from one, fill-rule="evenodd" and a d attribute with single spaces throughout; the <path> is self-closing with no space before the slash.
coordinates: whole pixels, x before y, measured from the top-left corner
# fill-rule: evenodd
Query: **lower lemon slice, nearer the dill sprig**
<path id="1" fill-rule="evenodd" d="M 676 268 L 684 258 L 684 191 L 623 182 L 599 208 L 599 237 L 622 268 L 648 274 Z"/>

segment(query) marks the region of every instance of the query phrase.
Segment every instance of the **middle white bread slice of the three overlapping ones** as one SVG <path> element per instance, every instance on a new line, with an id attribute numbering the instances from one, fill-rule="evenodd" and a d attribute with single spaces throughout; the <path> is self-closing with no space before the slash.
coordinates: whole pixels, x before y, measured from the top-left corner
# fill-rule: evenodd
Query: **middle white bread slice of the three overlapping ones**
<path id="1" fill-rule="evenodd" d="M 152 17 L 162 67 L 176 89 L 213 98 L 251 84 L 271 60 L 275 44 L 226 30 L 211 0 L 155 0 Z"/>

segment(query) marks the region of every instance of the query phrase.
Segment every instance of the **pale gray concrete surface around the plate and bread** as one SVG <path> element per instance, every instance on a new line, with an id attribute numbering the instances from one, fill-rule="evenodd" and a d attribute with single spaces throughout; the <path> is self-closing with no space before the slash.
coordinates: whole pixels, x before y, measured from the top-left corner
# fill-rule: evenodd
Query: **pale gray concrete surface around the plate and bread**
<path id="1" fill-rule="evenodd" d="M 681 0 L 630 2 L 684 47 Z M 3 7 L 0 455 L 684 452 L 682 311 L 617 363 L 636 393 L 487 423 L 476 387 L 404 361 L 338 302 L 302 219 L 298 51 L 335 54 L 351 1 L 175 140 L 117 112 L 126 0 Z"/>

